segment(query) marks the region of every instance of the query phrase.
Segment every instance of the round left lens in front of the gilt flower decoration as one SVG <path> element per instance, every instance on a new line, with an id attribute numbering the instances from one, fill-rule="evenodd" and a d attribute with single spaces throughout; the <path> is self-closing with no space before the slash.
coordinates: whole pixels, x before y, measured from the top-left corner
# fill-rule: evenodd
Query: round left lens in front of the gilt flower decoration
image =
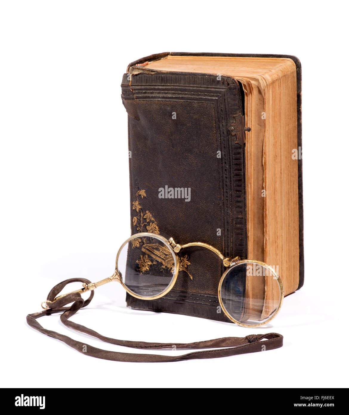
<path id="1" fill-rule="evenodd" d="M 133 235 L 117 256 L 121 282 L 139 297 L 156 297 L 171 285 L 178 268 L 177 259 L 162 237 Z"/>

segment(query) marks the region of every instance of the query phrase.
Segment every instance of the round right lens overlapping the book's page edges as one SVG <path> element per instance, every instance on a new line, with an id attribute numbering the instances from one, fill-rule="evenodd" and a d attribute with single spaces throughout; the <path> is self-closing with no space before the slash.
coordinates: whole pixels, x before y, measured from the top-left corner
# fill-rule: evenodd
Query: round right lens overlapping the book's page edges
<path id="1" fill-rule="evenodd" d="M 221 305 L 233 320 L 257 326 L 270 320 L 281 303 L 281 281 L 273 268 L 241 261 L 226 271 L 219 290 Z"/>

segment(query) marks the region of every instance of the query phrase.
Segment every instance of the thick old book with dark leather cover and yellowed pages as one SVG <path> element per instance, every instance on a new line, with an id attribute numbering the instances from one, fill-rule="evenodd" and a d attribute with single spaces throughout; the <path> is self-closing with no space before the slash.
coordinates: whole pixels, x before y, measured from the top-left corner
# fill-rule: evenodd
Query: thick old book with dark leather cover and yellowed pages
<path id="1" fill-rule="evenodd" d="M 131 232 L 204 242 L 276 268 L 285 295 L 304 280 L 301 64 L 294 56 L 162 53 L 132 62 L 128 113 Z M 250 131 L 249 131 L 250 129 Z M 143 252 L 166 264 L 166 252 Z M 225 270 L 211 251 L 181 252 L 165 297 L 127 305 L 230 321 Z"/>

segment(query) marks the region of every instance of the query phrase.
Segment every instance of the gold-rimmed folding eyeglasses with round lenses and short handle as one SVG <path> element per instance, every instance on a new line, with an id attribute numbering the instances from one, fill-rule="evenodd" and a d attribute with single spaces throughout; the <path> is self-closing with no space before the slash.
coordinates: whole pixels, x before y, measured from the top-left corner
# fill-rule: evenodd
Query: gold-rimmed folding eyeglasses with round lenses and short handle
<path id="1" fill-rule="evenodd" d="M 284 288 L 272 266 L 252 259 L 226 258 L 203 242 L 179 245 L 173 238 L 148 232 L 134 234 L 121 245 L 111 277 L 83 284 L 80 290 L 73 292 L 85 293 L 118 281 L 133 297 L 143 300 L 163 297 L 173 288 L 179 271 L 186 271 L 186 257 L 179 258 L 179 252 L 194 246 L 213 251 L 227 268 L 218 283 L 218 300 L 230 320 L 243 327 L 259 327 L 276 316 L 284 299 Z M 50 308 L 50 303 L 46 300 L 41 306 Z"/>

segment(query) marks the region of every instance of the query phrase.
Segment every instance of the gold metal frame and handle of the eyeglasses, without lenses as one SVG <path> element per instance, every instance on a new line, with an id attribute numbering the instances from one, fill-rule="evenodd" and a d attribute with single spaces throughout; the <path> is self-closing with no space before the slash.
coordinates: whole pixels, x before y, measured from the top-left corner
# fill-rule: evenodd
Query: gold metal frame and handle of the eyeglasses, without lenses
<path id="1" fill-rule="evenodd" d="M 119 269 L 118 269 L 118 260 L 119 260 L 119 256 L 121 253 L 121 250 L 124 248 L 124 246 L 126 244 L 128 244 L 128 242 L 130 242 L 132 239 L 135 238 L 139 238 L 139 237 L 152 237 L 155 239 L 160 240 L 161 242 L 163 242 L 163 244 L 165 244 L 165 246 L 167 246 L 167 248 L 170 250 L 172 256 L 174 257 L 174 271 L 173 272 L 173 277 L 171 280 L 171 283 L 169 284 L 169 286 L 167 286 L 167 288 L 162 291 L 160 294 L 152 296 L 152 297 L 144 297 L 141 295 L 137 295 L 135 293 L 133 293 L 131 290 L 129 290 L 127 288 L 127 286 L 124 284 L 124 282 L 122 281 L 122 278 L 120 277 L 119 274 Z M 187 244 L 184 245 L 179 245 L 176 242 L 174 242 L 173 238 L 170 239 L 166 239 L 165 237 L 162 237 L 159 234 L 154 234 L 151 232 L 140 232 L 138 234 L 133 234 L 131 237 L 129 237 L 128 239 L 126 239 L 126 241 L 121 245 L 121 247 L 119 248 L 117 254 L 116 254 L 116 259 L 115 259 L 115 271 L 113 273 L 112 276 L 105 278 L 102 281 L 98 281 L 97 283 L 90 283 L 90 284 L 82 284 L 82 288 L 80 290 L 76 290 L 76 291 L 71 291 L 70 293 L 66 293 L 63 295 L 59 295 L 58 297 L 56 297 L 53 301 L 58 300 L 59 298 L 64 297 L 65 295 L 71 294 L 71 293 L 85 293 L 87 291 L 92 291 L 95 290 L 95 288 L 104 285 L 106 283 L 109 283 L 111 281 L 117 281 L 119 283 L 121 283 L 121 285 L 125 288 L 126 292 L 130 295 L 132 295 L 133 297 L 139 298 L 140 300 L 156 300 L 158 298 L 163 297 L 164 295 L 166 295 L 169 291 L 172 290 L 174 284 L 177 281 L 177 276 L 179 273 L 179 256 L 178 256 L 178 252 L 184 248 L 187 247 L 203 247 L 206 249 L 209 249 L 210 251 L 214 252 L 216 255 L 219 256 L 219 258 L 221 258 L 221 260 L 223 261 L 224 266 L 228 267 L 228 269 L 226 269 L 221 277 L 221 280 L 219 281 L 218 284 L 218 301 L 219 304 L 221 306 L 221 309 L 223 310 L 224 314 L 229 318 L 229 320 L 233 321 L 234 323 L 236 323 L 239 326 L 242 327 L 260 327 L 263 326 L 265 324 L 267 324 L 270 320 L 272 320 L 274 317 L 276 317 L 276 315 L 279 313 L 281 305 L 283 303 L 284 300 L 284 286 L 282 285 L 282 281 L 281 278 L 279 277 L 279 275 L 274 271 L 274 269 L 265 264 L 264 262 L 261 261 L 256 261 L 256 260 L 252 260 L 252 259 L 240 259 L 240 257 L 236 256 L 235 258 L 229 258 L 229 257 L 225 257 L 223 254 L 221 254 L 220 251 L 218 251 L 218 249 L 212 247 L 211 245 L 205 244 L 203 242 L 189 242 Z M 279 305 L 276 308 L 276 310 L 274 311 L 274 313 L 264 322 L 259 323 L 259 324 L 254 324 L 254 325 L 249 325 L 249 324 L 244 324 L 242 322 L 239 322 L 238 320 L 235 320 L 233 317 L 230 316 L 229 312 L 225 309 L 224 305 L 223 305 L 223 301 L 221 298 L 221 287 L 222 287 L 222 283 L 224 281 L 225 276 L 236 266 L 238 266 L 239 264 L 247 264 L 247 263 L 252 263 L 252 264 L 259 264 L 264 266 L 266 269 L 268 269 L 271 274 L 274 276 L 274 278 L 276 279 L 276 281 L 279 284 L 279 288 L 280 288 L 280 301 L 279 301 Z M 49 300 L 43 301 L 41 303 L 41 307 L 44 308 L 45 310 L 50 308 L 50 305 L 52 302 Z"/>

